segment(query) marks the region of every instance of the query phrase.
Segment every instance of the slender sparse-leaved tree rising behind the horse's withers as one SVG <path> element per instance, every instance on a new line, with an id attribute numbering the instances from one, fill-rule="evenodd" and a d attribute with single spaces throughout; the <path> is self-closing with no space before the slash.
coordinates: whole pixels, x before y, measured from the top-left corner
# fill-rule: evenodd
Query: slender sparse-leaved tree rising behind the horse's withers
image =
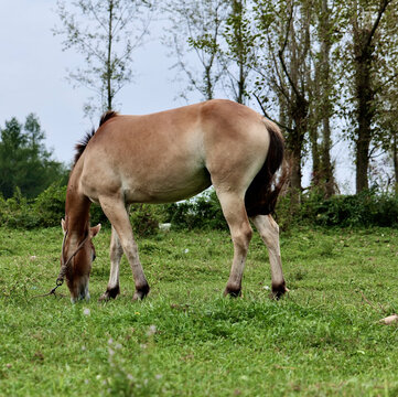
<path id="1" fill-rule="evenodd" d="M 85 67 L 71 72 L 68 78 L 95 93 L 99 105 L 84 107 L 86 115 L 116 107 L 116 95 L 133 76 L 133 51 L 148 33 L 153 4 L 147 0 L 57 1 L 62 28 L 54 34 L 64 36 L 63 50 L 75 49 L 85 58 Z"/>

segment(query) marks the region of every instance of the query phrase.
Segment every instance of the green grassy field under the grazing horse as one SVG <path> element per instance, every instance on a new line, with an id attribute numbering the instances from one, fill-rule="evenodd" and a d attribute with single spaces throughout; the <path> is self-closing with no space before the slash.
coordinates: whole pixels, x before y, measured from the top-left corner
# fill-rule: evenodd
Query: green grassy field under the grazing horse
<path id="1" fill-rule="evenodd" d="M 269 299 L 268 255 L 256 234 L 244 296 L 223 299 L 232 260 L 223 232 L 140 239 L 151 285 L 132 302 L 99 303 L 109 230 L 96 238 L 92 301 L 37 298 L 54 286 L 60 229 L 0 228 L 1 396 L 398 396 L 397 229 L 282 234 L 291 292 Z"/>

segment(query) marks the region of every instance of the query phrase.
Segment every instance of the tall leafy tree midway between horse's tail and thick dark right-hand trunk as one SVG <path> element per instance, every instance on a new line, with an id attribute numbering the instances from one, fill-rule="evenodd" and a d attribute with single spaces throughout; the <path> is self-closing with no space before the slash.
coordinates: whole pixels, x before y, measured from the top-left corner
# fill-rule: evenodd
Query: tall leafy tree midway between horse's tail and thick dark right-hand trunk
<path id="1" fill-rule="evenodd" d="M 325 197 L 336 192 L 334 167 L 331 159 L 331 119 L 336 115 L 336 77 L 338 73 L 338 47 L 341 34 L 338 21 L 341 7 L 334 1 L 315 0 L 309 2 L 313 9 L 311 21 L 311 57 L 313 72 L 309 73 L 311 101 L 309 138 L 312 153 L 312 185 Z"/>

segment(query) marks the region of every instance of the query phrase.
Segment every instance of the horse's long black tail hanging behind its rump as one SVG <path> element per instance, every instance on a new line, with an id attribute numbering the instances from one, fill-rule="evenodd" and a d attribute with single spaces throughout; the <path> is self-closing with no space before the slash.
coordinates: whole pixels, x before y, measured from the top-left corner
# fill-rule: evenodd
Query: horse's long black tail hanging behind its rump
<path id="1" fill-rule="evenodd" d="M 277 125 L 267 119 L 263 119 L 263 122 L 269 133 L 269 148 L 261 170 L 246 191 L 245 206 L 248 216 L 273 213 L 279 193 L 288 176 L 287 168 L 283 167 L 279 181 L 276 181 L 276 173 L 283 162 L 284 139 Z"/>

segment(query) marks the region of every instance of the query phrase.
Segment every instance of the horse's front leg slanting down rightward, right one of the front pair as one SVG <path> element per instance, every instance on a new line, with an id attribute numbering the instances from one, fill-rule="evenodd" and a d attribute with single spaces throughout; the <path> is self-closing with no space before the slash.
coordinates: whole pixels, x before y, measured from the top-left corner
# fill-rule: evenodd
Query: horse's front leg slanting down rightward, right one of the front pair
<path id="1" fill-rule="evenodd" d="M 132 228 L 125 203 L 119 198 L 108 196 L 99 197 L 99 203 L 105 215 L 108 217 L 112 227 L 115 227 L 115 230 L 119 236 L 121 247 L 123 248 L 130 264 L 136 283 L 133 299 L 143 299 L 149 292 L 149 285 L 138 256 L 138 247 L 132 235 Z"/>

